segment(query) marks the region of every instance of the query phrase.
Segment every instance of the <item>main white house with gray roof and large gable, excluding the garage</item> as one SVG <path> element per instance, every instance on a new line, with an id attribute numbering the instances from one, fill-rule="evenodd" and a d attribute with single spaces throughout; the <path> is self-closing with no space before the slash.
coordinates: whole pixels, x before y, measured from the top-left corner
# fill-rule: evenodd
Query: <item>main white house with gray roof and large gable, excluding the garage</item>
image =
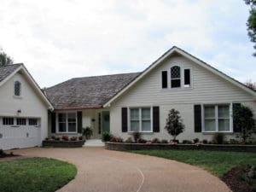
<path id="1" fill-rule="evenodd" d="M 256 92 L 183 49 L 172 47 L 142 73 L 70 79 L 45 90 L 55 108 L 49 136 L 79 135 L 82 127 L 144 139 L 170 139 L 164 129 L 169 110 L 177 109 L 185 131 L 177 139 L 212 139 L 215 132 L 236 138 L 233 108 L 243 104 L 256 115 Z"/>

